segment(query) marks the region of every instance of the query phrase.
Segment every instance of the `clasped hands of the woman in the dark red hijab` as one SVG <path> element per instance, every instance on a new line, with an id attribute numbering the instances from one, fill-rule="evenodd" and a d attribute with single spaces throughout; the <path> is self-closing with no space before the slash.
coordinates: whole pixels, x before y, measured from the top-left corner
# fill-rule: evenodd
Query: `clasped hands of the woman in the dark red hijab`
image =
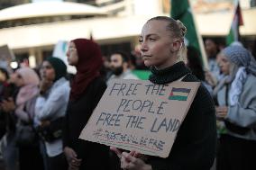
<path id="1" fill-rule="evenodd" d="M 78 170 L 81 166 L 82 159 L 78 159 L 77 153 L 69 147 L 64 148 L 64 154 L 69 164 L 69 170 Z"/>

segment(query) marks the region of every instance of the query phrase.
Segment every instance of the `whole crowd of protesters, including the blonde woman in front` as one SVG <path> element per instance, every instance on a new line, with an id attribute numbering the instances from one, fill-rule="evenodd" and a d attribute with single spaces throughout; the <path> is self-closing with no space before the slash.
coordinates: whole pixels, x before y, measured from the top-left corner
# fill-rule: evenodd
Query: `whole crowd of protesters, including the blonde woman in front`
<path id="1" fill-rule="evenodd" d="M 255 51 L 242 43 L 218 47 L 206 39 L 208 69 L 200 53 L 185 45 L 186 27 L 167 16 L 147 21 L 140 52 L 116 49 L 103 59 L 94 40 L 69 41 L 67 58 L 77 73 L 49 56 L 39 69 L 0 68 L 0 139 L 6 170 L 217 170 L 256 169 Z M 254 55 L 254 56 L 253 56 Z M 169 157 L 78 139 L 113 79 L 140 79 L 147 69 L 153 84 L 201 82 L 180 126 Z M 254 89 L 254 90 L 253 90 Z"/>

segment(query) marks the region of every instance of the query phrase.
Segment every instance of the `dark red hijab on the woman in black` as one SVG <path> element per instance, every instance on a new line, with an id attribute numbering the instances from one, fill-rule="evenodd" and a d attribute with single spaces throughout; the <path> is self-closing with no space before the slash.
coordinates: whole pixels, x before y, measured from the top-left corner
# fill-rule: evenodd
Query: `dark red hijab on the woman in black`
<path id="1" fill-rule="evenodd" d="M 96 42 L 87 39 L 71 40 L 78 52 L 77 74 L 71 84 L 70 100 L 78 99 L 87 89 L 87 85 L 99 76 L 103 58 Z"/>

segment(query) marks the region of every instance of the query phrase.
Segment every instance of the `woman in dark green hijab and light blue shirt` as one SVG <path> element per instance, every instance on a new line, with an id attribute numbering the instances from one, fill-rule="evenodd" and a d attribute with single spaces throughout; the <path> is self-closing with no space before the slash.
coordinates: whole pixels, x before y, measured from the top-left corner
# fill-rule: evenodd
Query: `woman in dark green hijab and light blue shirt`
<path id="1" fill-rule="evenodd" d="M 41 67 L 40 96 L 37 98 L 35 110 L 38 126 L 50 126 L 66 114 L 69 102 L 69 81 L 65 78 L 67 66 L 59 58 L 47 58 Z M 46 149 L 41 150 L 44 157 L 44 165 L 47 170 L 67 169 L 67 163 L 63 155 L 62 140 L 42 139 Z"/>

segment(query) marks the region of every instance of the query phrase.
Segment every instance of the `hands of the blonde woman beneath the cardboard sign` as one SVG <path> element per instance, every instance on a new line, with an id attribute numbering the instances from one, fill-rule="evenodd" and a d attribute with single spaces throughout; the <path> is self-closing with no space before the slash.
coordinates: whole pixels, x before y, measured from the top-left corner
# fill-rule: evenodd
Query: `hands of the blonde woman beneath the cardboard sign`
<path id="1" fill-rule="evenodd" d="M 118 148 L 110 147 L 112 151 L 120 158 L 121 161 L 121 168 L 124 170 L 151 170 L 151 166 L 146 164 L 141 157 L 142 154 L 131 151 L 130 153 L 123 152 Z M 140 157 L 140 158 L 139 158 Z"/>

